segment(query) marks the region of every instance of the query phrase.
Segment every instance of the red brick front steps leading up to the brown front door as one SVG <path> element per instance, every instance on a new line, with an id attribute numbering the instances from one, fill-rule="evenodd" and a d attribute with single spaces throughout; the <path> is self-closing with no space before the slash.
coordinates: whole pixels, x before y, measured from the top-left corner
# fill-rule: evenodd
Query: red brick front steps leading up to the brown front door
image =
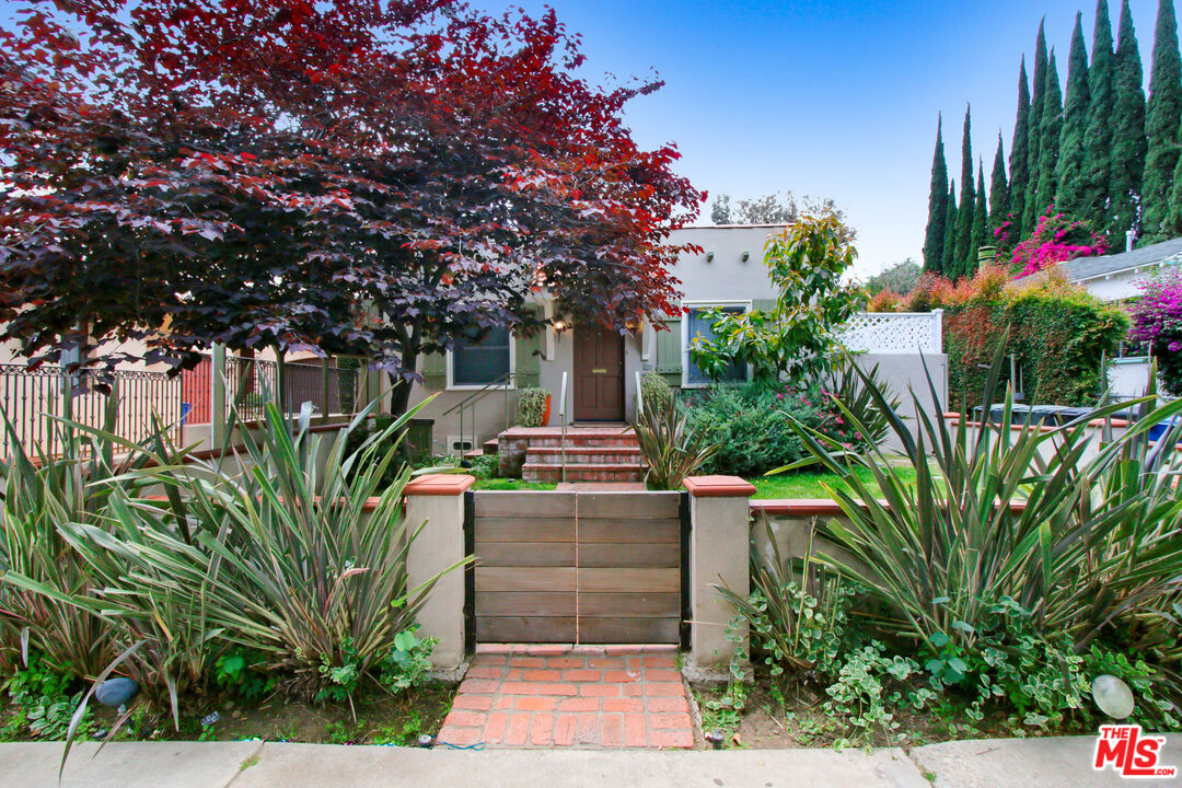
<path id="1" fill-rule="evenodd" d="M 565 452 L 564 452 L 565 439 Z M 644 478 L 636 434 L 626 425 L 514 426 L 498 437 L 500 471 L 527 482 L 639 482 Z"/>

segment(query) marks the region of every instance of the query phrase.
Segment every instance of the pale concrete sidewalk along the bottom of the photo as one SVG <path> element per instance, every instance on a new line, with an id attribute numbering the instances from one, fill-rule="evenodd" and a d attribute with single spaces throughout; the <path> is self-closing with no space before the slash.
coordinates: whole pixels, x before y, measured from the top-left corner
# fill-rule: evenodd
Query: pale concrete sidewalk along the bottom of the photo
<path id="1" fill-rule="evenodd" d="M 418 750 L 262 742 L 96 744 L 70 756 L 64 788 L 372 788 L 439 786 L 676 786 L 677 788 L 1100 788 L 1128 786 L 1091 768 L 1091 737 L 950 742 L 863 750 Z M 0 744 L 0 786 L 52 788 L 61 745 Z M 1162 754 L 1182 764 L 1182 737 Z M 1182 786 L 1137 780 L 1137 786 Z"/>

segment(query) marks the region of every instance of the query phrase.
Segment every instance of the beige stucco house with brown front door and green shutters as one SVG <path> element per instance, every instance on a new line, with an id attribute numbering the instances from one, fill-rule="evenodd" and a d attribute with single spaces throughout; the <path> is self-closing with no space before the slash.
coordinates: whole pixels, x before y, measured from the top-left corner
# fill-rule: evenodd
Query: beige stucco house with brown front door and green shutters
<path id="1" fill-rule="evenodd" d="M 434 441 L 439 451 L 455 452 L 479 448 L 480 443 L 512 425 L 515 391 L 538 385 L 551 392 L 551 425 L 560 423 L 623 424 L 636 417 L 636 373 L 656 371 L 676 389 L 703 388 L 706 376 L 689 357 L 690 340 L 709 337 L 710 326 L 702 312 L 709 307 L 747 311 L 767 310 L 774 305 L 775 288 L 764 265 L 764 245 L 780 224 L 722 224 L 687 227 L 675 230 L 671 243 L 695 245 L 701 253 L 683 253 L 674 266 L 684 298 L 683 315 L 661 320 L 661 328 L 644 323 L 626 336 L 606 332 L 599 326 L 570 325 L 556 314 L 552 300 L 539 299 L 538 310 L 556 318 L 559 330 L 547 328 L 534 337 L 513 337 L 492 331 L 474 345 L 461 345 L 446 354 L 427 356 L 420 362 L 423 383 L 415 386 L 411 402 L 436 398 L 418 415 L 435 421 Z M 870 315 L 878 317 L 878 315 Z M 936 325 L 933 315 L 888 315 L 895 324 L 909 318 L 927 326 Z M 937 328 L 939 331 L 939 328 Z M 930 332 L 929 332 L 930 333 Z M 927 337 L 927 334 L 924 334 Z M 910 383 L 927 391 L 923 365 L 917 346 L 902 339 L 907 347 L 890 352 L 891 364 L 883 373 L 900 393 Z M 862 347 L 860 350 L 878 350 Z M 939 352 L 926 346 L 929 366 L 942 390 L 946 363 Z M 910 353 L 910 354 L 908 354 Z M 882 357 L 870 359 L 878 363 Z M 886 369 L 886 367 L 890 369 Z M 559 402 L 563 375 L 566 375 L 565 408 Z M 747 378 L 747 369 L 736 366 L 728 377 Z M 930 398 L 923 393 L 924 398 Z"/>

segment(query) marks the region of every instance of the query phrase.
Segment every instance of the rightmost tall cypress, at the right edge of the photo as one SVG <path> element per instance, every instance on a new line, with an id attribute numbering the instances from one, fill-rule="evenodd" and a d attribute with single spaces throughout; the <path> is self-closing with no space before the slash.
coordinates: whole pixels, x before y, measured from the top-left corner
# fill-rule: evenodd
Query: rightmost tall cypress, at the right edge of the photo
<path id="1" fill-rule="evenodd" d="M 1145 110 L 1145 180 L 1141 188 L 1142 233 L 1161 235 L 1169 213 L 1170 182 L 1178 161 L 1178 117 L 1182 116 L 1182 63 L 1174 0 L 1157 4 L 1154 61 Z"/>

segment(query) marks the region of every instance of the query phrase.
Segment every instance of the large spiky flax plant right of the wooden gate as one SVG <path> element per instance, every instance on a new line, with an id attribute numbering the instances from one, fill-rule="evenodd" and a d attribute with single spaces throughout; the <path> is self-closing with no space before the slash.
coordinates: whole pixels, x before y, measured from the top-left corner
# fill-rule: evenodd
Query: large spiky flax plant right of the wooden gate
<path id="1" fill-rule="evenodd" d="M 986 412 L 1001 369 L 999 352 L 985 389 Z M 1090 447 L 1096 437 L 1089 422 L 1110 419 L 1128 403 L 1100 403 L 1069 424 L 1044 429 L 1015 423 L 1007 389 L 1000 418 L 970 426 L 961 412 L 950 428 L 913 392 L 913 435 L 865 376 L 864 384 L 886 413 L 914 483 L 904 481 L 897 458 L 888 461 L 877 447 L 845 451 L 801 424 L 794 429 L 850 490 L 830 490 L 849 525 L 824 527 L 849 559 L 820 560 L 901 614 L 910 634 L 931 651 L 948 642 L 972 649 L 978 624 L 1005 597 L 1030 611 L 1043 633 L 1067 633 L 1078 652 L 1132 619 L 1176 633 L 1168 608 L 1182 588 L 1176 487 L 1182 457 L 1173 450 L 1180 430 L 1152 445 L 1147 435 L 1182 412 L 1182 400 L 1137 400 L 1144 410 L 1139 421 Z M 931 395 L 940 402 L 934 386 Z M 858 465 L 870 470 L 869 481 L 855 473 Z"/>

